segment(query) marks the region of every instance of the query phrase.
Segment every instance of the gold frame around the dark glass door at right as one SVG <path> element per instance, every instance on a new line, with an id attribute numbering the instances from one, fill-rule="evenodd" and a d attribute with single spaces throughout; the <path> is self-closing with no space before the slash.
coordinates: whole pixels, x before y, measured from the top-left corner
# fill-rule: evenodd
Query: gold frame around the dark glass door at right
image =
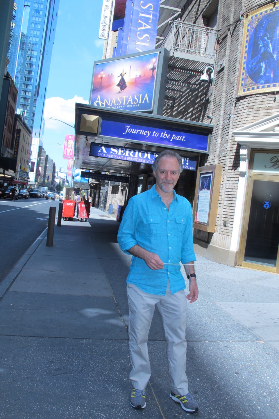
<path id="1" fill-rule="evenodd" d="M 244 202 L 244 211 L 243 211 L 243 221 L 242 221 L 242 233 L 241 233 L 241 241 L 239 244 L 239 252 L 238 252 L 238 266 L 243 266 L 245 268 L 250 269 L 257 269 L 258 271 L 264 271 L 264 272 L 274 272 L 279 273 L 279 248 L 277 253 L 277 261 L 276 261 L 276 267 L 273 266 L 267 266 L 267 265 L 261 265 L 257 263 L 252 262 L 245 262 L 244 259 L 244 253 L 245 253 L 245 247 L 246 247 L 246 239 L 247 239 L 247 231 L 248 231 L 248 222 L 249 222 L 249 215 L 250 215 L 250 209 L 251 209 L 251 198 L 252 198 L 252 191 L 253 191 L 253 181 L 259 180 L 259 181 L 277 181 L 279 182 L 279 176 L 276 174 L 267 174 L 267 173 L 256 173 L 253 172 L 253 161 L 254 161 L 254 155 L 255 153 L 272 153 L 274 150 L 253 150 L 251 153 L 251 158 L 249 162 L 249 170 L 248 170 L 248 181 L 247 181 L 247 193 L 246 198 Z"/>

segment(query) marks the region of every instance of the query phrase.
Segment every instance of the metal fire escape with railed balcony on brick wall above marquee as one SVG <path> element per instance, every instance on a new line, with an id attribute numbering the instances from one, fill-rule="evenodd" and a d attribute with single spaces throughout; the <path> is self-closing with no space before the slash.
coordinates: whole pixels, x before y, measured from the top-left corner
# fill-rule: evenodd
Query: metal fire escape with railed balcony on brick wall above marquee
<path id="1" fill-rule="evenodd" d="M 156 47 L 169 50 L 164 109 L 173 107 L 188 89 L 196 89 L 205 68 L 215 65 L 217 30 L 181 21 L 182 10 L 174 5 L 184 3 L 161 0 Z M 160 32 L 164 36 L 158 36 Z"/>

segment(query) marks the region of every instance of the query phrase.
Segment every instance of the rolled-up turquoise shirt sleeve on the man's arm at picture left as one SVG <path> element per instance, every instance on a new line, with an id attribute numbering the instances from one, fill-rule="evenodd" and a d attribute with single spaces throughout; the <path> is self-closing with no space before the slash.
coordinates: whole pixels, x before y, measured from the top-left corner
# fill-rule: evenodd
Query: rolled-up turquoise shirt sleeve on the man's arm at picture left
<path id="1" fill-rule="evenodd" d="M 135 238 L 137 213 L 136 205 L 133 198 L 131 198 L 125 208 L 117 235 L 119 247 L 126 254 L 130 254 L 127 250 L 138 244 Z"/>

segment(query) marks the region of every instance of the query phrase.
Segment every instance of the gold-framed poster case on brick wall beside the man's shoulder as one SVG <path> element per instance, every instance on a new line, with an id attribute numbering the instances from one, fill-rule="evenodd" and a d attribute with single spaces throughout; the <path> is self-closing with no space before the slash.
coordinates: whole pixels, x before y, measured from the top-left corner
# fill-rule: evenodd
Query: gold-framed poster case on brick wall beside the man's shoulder
<path id="1" fill-rule="evenodd" d="M 198 230 L 215 232 L 221 176 L 221 165 L 203 166 L 197 169 L 193 227 Z"/>

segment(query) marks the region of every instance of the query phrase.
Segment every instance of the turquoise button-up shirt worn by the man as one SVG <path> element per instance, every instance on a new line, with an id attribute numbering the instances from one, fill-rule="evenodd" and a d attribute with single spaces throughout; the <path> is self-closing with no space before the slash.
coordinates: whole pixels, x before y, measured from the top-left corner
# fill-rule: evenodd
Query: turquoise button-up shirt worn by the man
<path id="1" fill-rule="evenodd" d="M 127 283 L 157 295 L 166 294 L 168 281 L 171 294 L 186 288 L 179 262 L 187 264 L 196 260 L 193 249 L 192 208 L 186 198 L 174 191 L 174 199 L 168 212 L 155 185 L 150 190 L 132 197 L 124 211 L 117 239 L 125 253 L 137 244 L 157 253 L 164 263 L 177 264 L 164 265 L 164 269 L 152 270 L 143 259 L 133 256 Z"/>

